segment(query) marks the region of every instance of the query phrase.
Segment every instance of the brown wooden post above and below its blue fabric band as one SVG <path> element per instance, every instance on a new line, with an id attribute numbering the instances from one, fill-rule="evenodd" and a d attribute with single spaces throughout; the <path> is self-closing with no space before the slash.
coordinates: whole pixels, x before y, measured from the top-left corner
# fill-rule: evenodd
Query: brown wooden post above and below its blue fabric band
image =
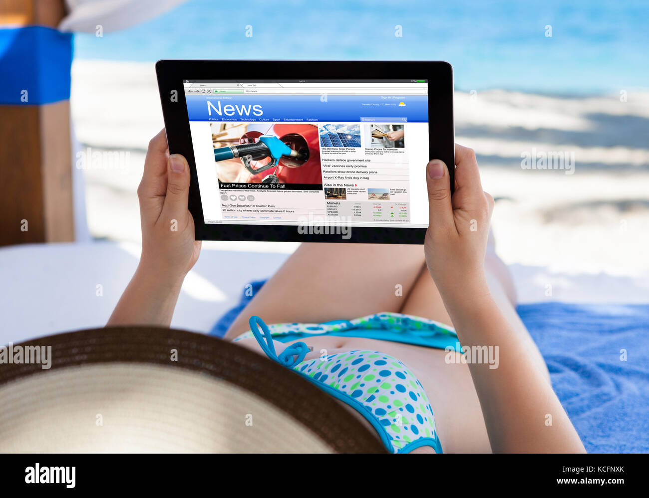
<path id="1" fill-rule="evenodd" d="M 56 27 L 64 15 L 63 0 L 0 0 L 0 29 Z M 0 104 L 0 116 L 0 246 L 73 241 L 69 100 Z"/>

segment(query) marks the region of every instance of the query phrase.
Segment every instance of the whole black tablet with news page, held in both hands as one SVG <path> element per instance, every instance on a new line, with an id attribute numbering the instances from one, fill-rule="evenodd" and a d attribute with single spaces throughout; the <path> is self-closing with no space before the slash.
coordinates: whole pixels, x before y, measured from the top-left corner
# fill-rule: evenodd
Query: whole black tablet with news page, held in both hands
<path id="1" fill-rule="evenodd" d="M 156 72 L 197 240 L 423 243 L 426 163 L 454 165 L 447 62 L 160 60 Z"/>

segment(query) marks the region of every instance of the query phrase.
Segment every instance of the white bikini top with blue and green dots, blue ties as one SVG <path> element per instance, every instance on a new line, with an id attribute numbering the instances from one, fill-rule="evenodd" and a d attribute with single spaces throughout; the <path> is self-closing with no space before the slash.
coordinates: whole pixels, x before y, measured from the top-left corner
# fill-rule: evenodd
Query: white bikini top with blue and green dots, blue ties
<path id="1" fill-rule="evenodd" d="M 409 453 L 420 446 L 432 446 L 436 453 L 442 453 L 426 392 L 402 362 L 369 350 L 303 361 L 309 351 L 304 342 L 295 342 L 277 355 L 263 320 L 251 316 L 250 327 L 270 359 L 295 370 L 359 412 L 374 427 L 387 451 Z"/>

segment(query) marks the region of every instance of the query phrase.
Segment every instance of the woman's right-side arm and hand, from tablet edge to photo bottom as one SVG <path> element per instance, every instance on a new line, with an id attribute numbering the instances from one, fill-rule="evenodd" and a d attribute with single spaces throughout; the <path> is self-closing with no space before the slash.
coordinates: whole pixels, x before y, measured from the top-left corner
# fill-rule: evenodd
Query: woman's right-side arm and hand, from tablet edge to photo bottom
<path id="1" fill-rule="evenodd" d="M 441 161 L 426 168 L 430 222 L 426 263 L 463 348 L 498 347 L 498 366 L 469 362 L 496 453 L 583 452 L 582 442 L 523 338 L 491 297 L 484 273 L 493 198 L 473 151 L 456 146 L 456 191 Z"/>

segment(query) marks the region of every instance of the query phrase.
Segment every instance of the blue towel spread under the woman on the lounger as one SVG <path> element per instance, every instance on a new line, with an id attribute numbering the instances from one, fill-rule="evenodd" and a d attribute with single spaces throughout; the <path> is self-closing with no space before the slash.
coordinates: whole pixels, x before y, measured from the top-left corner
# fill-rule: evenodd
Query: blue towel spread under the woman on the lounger
<path id="1" fill-rule="evenodd" d="M 252 282 L 253 295 L 263 283 Z M 223 337 L 251 299 L 244 293 L 210 333 Z M 649 305 L 539 303 L 518 312 L 587 451 L 649 453 Z"/>

